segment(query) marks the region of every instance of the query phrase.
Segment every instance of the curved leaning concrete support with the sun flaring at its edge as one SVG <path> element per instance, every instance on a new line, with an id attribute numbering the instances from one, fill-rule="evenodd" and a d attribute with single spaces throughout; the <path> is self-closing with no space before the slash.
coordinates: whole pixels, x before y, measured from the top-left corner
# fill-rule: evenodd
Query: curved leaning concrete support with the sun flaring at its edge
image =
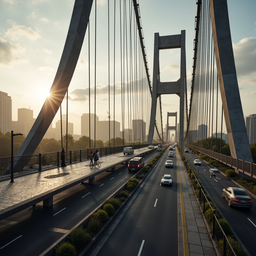
<path id="1" fill-rule="evenodd" d="M 74 3 L 67 39 L 50 89 L 50 96 L 45 100 L 33 127 L 17 152 L 17 156 L 34 153 L 67 93 L 82 48 L 92 3 L 93 0 L 76 0 Z"/>

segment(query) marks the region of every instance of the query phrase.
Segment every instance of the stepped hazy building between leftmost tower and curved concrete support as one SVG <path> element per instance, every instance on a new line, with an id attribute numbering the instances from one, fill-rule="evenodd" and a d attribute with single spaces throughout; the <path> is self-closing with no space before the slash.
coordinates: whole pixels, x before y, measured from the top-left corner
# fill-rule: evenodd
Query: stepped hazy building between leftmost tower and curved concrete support
<path id="1" fill-rule="evenodd" d="M 18 121 L 12 121 L 12 130 L 14 133 L 22 133 L 27 136 L 35 121 L 33 110 L 26 108 L 18 109 Z"/>

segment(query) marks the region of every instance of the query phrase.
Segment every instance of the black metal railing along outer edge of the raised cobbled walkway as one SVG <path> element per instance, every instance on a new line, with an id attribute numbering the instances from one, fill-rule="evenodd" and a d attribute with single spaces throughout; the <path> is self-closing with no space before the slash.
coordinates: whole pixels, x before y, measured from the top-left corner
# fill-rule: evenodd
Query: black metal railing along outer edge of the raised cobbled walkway
<path id="1" fill-rule="evenodd" d="M 154 146 L 158 144 L 152 144 Z M 101 147 L 98 148 L 100 156 L 111 155 L 115 153 L 123 152 L 124 147 L 133 147 L 134 149 L 147 147 L 148 144 L 140 145 L 126 145 L 126 146 L 115 146 L 115 147 Z M 80 150 L 70 150 L 66 152 L 65 162 L 74 163 L 89 159 L 89 152 L 95 150 L 95 148 L 87 148 Z M 38 153 L 33 155 L 25 156 L 14 156 L 14 175 L 29 173 L 33 171 L 41 171 L 42 169 L 60 166 L 60 152 L 52 153 Z M 26 163 L 25 165 L 23 163 Z M 11 176 L 11 157 L 0 158 L 0 179 Z"/>

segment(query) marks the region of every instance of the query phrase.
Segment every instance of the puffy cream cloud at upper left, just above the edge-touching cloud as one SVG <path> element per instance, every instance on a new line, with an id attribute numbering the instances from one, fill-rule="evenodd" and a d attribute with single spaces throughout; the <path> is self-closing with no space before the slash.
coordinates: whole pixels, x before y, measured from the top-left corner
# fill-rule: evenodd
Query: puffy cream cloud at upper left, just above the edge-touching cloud
<path id="1" fill-rule="evenodd" d="M 34 31 L 31 27 L 26 27 L 24 25 L 13 25 L 12 28 L 7 29 L 4 37 L 11 40 L 22 40 L 25 38 L 35 41 L 41 36 L 39 35 L 38 31 Z"/>

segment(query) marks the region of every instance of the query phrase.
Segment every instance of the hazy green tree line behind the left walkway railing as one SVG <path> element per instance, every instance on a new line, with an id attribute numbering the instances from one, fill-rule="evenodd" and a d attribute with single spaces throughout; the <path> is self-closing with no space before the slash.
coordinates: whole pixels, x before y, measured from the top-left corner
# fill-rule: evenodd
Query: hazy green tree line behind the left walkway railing
<path id="1" fill-rule="evenodd" d="M 66 150 L 66 137 L 62 136 L 62 146 Z M 16 155 L 22 143 L 24 142 L 26 136 L 15 136 L 13 139 L 13 154 Z M 11 156 L 11 133 L 2 133 L 0 130 L 0 157 L 10 157 Z M 115 137 L 115 146 L 122 146 L 123 139 L 120 137 Z M 129 145 L 129 142 L 124 140 L 124 145 Z M 114 138 L 110 140 L 110 146 L 114 146 Z M 80 150 L 89 148 L 89 137 L 82 136 L 78 140 L 75 140 L 71 134 L 68 134 L 68 150 Z M 95 140 L 95 148 L 109 147 L 109 141 L 103 142 L 102 140 Z M 91 139 L 91 148 L 94 148 L 94 140 Z M 34 154 L 38 153 L 50 153 L 61 151 L 61 140 L 55 140 L 54 138 L 43 138 L 39 143 Z"/>

